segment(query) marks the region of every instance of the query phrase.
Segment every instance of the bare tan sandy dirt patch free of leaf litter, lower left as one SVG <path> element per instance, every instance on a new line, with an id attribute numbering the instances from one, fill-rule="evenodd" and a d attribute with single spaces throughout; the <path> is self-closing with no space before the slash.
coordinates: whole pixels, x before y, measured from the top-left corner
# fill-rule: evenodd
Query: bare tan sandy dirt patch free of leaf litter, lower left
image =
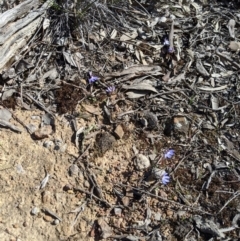
<path id="1" fill-rule="evenodd" d="M 41 111 L 21 110 L 14 113 L 26 125 L 34 126 L 40 125 L 40 117 L 44 114 Z M 32 117 L 39 118 L 33 120 Z M 69 167 L 78 156 L 78 150 L 71 142 L 73 131 L 63 117 L 57 117 L 55 124 L 56 132 L 39 141 L 33 140 L 24 128 L 20 134 L 1 129 L 0 240 L 94 240 L 89 237 L 89 232 L 100 211 L 90 203 L 74 224 L 76 213 L 71 212 L 85 202 L 86 195 L 64 191 L 64 187 L 69 185 L 86 189 L 89 183 L 82 173 L 73 177 L 69 175 Z M 80 119 L 78 125 L 84 126 L 86 123 Z M 46 148 L 43 146 L 46 140 L 61 140 L 67 148 L 64 152 L 54 150 L 54 147 Z M 114 181 L 116 174 L 114 171 L 114 175 L 104 180 L 106 172 L 118 169 L 120 173 L 131 161 L 130 139 L 119 140 L 116 145 L 117 153 L 110 150 L 103 157 L 94 159 L 94 165 L 99 167 L 97 179 L 104 189 L 111 189 L 107 185 Z M 50 174 L 49 181 L 45 188 L 39 189 L 46 172 Z M 113 201 L 110 197 L 106 200 Z M 33 208 L 38 208 L 39 213 L 33 215 Z M 45 209 L 56 213 L 62 221 L 54 224 L 56 218 L 45 213 Z M 71 239 L 71 236 L 74 238 Z"/>

